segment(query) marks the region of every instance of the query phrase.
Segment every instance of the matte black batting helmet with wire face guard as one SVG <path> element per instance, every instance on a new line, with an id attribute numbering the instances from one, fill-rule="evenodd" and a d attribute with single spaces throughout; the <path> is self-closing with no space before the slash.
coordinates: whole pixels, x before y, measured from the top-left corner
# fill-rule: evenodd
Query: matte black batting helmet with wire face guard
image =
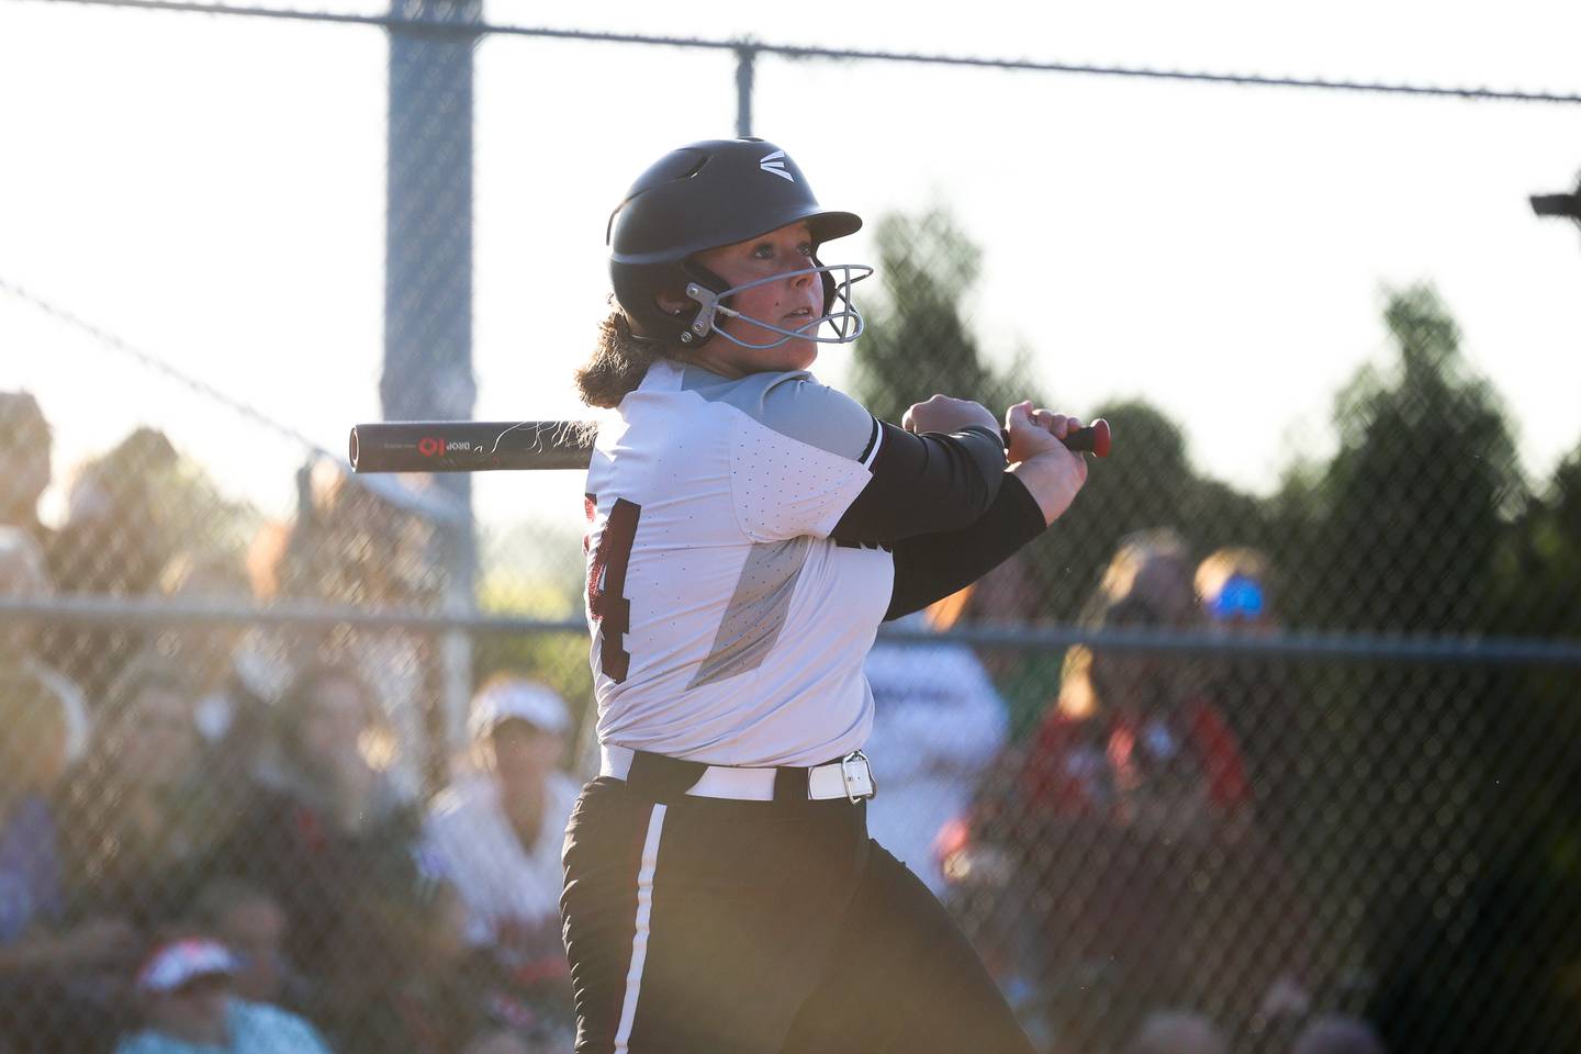
<path id="1" fill-rule="evenodd" d="M 814 267 L 732 288 L 692 259 L 704 250 L 746 242 L 790 223 L 806 223 L 813 234 Z M 632 332 L 648 340 L 699 346 L 719 333 L 743 348 L 775 348 L 792 338 L 844 344 L 862 333 L 862 313 L 851 302 L 851 284 L 873 269 L 862 264 L 825 267 L 817 259 L 817 247 L 860 228 L 862 218 L 855 213 L 819 205 L 802 169 L 775 144 L 762 139 L 694 142 L 672 150 L 639 175 L 610 213 L 606 240 L 615 300 Z M 843 277 L 836 280 L 835 272 Z M 822 278 L 821 318 L 789 330 L 740 316 L 779 333 L 779 340 L 767 344 L 748 344 L 715 326 L 719 314 L 737 314 L 730 294 L 805 273 Z M 655 302 L 664 291 L 685 291 L 697 307 L 669 314 Z M 836 303 L 844 307 L 835 310 Z M 824 322 L 833 326 L 835 337 L 816 335 Z"/>

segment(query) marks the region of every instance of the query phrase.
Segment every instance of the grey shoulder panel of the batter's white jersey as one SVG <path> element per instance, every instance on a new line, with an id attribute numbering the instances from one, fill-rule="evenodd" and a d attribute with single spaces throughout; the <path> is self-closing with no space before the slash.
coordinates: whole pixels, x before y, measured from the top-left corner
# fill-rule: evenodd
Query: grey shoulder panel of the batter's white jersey
<path id="1" fill-rule="evenodd" d="M 866 461 L 879 425 L 857 400 L 819 384 L 806 370 L 751 373 L 735 381 L 686 367 L 681 387 L 726 403 L 760 425 L 819 450 Z"/>

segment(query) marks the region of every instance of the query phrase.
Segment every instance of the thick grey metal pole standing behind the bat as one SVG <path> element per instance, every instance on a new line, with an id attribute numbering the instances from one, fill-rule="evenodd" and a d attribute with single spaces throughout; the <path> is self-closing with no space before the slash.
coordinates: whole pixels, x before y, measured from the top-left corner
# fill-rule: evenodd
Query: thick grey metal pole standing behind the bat
<path id="1" fill-rule="evenodd" d="M 457 27 L 482 25 L 482 0 L 391 0 L 389 168 L 384 248 L 386 420 L 470 417 L 473 378 L 473 46 Z M 433 25 L 427 28 L 421 24 Z M 435 484 L 465 509 L 441 529 L 444 607 L 474 610 L 477 545 L 471 480 Z M 465 728 L 471 694 L 471 642 L 446 632 L 428 638 L 422 725 L 424 777 L 443 784 Z"/>

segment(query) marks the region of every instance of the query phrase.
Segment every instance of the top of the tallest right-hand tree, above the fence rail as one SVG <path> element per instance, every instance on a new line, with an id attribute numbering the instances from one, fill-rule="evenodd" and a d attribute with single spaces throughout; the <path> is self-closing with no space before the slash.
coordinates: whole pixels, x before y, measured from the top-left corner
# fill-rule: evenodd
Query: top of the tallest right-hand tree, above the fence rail
<path id="1" fill-rule="evenodd" d="M 1505 411 L 1459 354 L 1439 297 L 1390 297 L 1399 360 L 1336 400 L 1339 452 L 1317 488 L 1322 551 L 1298 591 L 1303 623 L 1350 631 L 1488 629 L 1494 563 L 1526 499 Z M 1320 574 L 1317 574 L 1320 572 Z"/>

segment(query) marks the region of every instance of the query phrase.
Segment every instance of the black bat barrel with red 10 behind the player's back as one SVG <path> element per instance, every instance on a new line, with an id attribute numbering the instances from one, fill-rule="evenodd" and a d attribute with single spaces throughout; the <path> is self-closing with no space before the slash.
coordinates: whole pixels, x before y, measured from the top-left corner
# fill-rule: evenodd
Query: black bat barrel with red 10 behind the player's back
<path id="1" fill-rule="evenodd" d="M 487 472 L 587 468 L 585 420 L 387 420 L 351 428 L 354 472 Z"/>

